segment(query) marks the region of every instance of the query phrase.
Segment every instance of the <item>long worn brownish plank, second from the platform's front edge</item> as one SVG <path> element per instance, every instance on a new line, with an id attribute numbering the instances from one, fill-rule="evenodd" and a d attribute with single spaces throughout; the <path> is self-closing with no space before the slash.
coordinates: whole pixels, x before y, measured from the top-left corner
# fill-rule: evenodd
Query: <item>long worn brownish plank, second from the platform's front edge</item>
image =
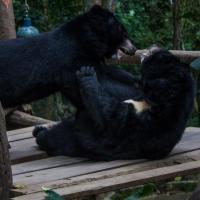
<path id="1" fill-rule="evenodd" d="M 31 184 L 31 185 L 25 184 L 26 185 L 25 188 L 15 189 L 14 191 L 20 194 L 30 194 L 34 192 L 39 192 L 42 186 L 45 186 L 48 188 L 61 188 L 65 186 L 77 185 L 85 181 L 89 182 L 91 180 L 100 180 L 105 177 L 111 178 L 111 177 L 120 176 L 123 174 L 136 173 L 140 171 L 145 171 L 145 170 L 150 170 L 150 169 L 165 167 L 165 166 L 172 166 L 172 165 L 186 163 L 186 162 L 190 162 L 194 160 L 200 160 L 200 150 L 184 153 L 181 155 L 174 155 L 174 156 L 168 157 L 167 159 L 158 160 L 158 161 L 143 161 L 143 162 L 141 161 L 140 163 L 137 163 L 137 164 L 129 164 L 129 165 L 125 165 L 118 168 L 102 170 L 100 172 L 94 172 L 94 173 L 88 173 L 86 175 L 70 177 L 70 179 L 68 178 L 68 179 L 56 180 L 56 181 L 45 180 L 45 182 L 43 183 L 37 183 L 37 184 Z M 15 182 L 15 177 L 14 177 L 14 182 Z"/>

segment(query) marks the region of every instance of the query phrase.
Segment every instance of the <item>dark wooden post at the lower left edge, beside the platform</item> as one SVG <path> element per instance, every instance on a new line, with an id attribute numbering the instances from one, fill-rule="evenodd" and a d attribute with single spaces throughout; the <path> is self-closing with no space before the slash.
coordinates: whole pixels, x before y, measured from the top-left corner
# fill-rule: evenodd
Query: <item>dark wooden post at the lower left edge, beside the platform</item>
<path id="1" fill-rule="evenodd" d="M 9 191 L 12 186 L 12 172 L 10 155 L 6 135 L 5 116 L 0 103 L 0 199 L 9 200 Z"/>

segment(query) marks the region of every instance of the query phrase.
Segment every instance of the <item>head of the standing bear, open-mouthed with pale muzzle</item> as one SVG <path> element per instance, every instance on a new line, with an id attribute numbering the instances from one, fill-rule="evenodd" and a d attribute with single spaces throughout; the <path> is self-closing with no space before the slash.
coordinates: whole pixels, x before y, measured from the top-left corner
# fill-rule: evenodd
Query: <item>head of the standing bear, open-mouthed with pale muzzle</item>
<path id="1" fill-rule="evenodd" d="M 111 58 L 119 50 L 134 55 L 136 47 L 124 26 L 109 10 L 95 5 L 68 26 L 84 54 L 98 60 Z M 70 28 L 69 28 L 70 27 Z"/>

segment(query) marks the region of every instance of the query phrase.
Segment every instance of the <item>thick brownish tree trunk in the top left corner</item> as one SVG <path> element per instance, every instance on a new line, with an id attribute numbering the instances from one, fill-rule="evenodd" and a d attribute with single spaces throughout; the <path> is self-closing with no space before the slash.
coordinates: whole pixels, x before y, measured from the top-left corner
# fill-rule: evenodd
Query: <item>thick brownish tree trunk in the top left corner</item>
<path id="1" fill-rule="evenodd" d="M 0 0 L 0 39 L 16 38 L 12 0 Z"/>

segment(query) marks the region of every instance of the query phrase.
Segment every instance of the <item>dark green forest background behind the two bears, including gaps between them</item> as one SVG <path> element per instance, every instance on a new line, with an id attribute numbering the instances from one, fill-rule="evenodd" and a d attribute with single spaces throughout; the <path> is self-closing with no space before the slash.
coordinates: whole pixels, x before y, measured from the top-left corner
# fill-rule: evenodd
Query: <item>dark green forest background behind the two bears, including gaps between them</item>
<path id="1" fill-rule="evenodd" d="M 40 32 L 49 31 L 85 12 L 93 2 L 88 0 L 28 1 L 33 25 Z M 104 0 L 98 2 L 105 7 L 112 4 L 115 15 L 125 25 L 138 48 L 146 48 L 156 43 L 168 49 L 199 50 L 200 0 Z M 14 0 L 13 3 L 16 26 L 19 27 L 23 18 L 24 1 Z M 122 67 L 131 72 L 138 71 L 138 66 Z M 74 108 L 58 94 L 33 103 L 33 111 L 35 115 L 59 120 L 73 113 Z M 189 125 L 200 125 L 198 106 Z"/>

